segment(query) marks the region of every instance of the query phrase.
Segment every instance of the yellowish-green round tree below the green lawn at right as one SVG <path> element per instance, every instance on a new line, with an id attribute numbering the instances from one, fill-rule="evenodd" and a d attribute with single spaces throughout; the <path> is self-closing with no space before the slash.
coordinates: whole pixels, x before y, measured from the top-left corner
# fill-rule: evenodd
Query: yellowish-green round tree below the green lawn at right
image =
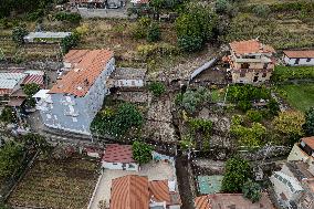
<path id="1" fill-rule="evenodd" d="M 304 114 L 297 111 L 286 111 L 273 119 L 274 129 L 287 138 L 299 138 L 304 135 Z"/>

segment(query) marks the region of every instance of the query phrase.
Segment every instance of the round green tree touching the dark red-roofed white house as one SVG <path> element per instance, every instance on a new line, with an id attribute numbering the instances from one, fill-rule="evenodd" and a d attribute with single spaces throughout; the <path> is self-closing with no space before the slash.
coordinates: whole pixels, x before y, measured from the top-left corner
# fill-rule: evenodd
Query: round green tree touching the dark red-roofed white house
<path id="1" fill-rule="evenodd" d="M 153 147 L 144 142 L 135 140 L 132 145 L 133 158 L 138 164 L 147 164 L 151 159 Z"/>

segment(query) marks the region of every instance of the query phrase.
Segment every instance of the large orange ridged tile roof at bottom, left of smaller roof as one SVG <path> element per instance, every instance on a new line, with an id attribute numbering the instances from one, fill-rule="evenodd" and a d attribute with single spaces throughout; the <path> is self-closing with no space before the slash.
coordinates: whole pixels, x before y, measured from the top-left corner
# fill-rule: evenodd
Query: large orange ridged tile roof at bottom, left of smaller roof
<path id="1" fill-rule="evenodd" d="M 148 209 L 148 178 L 128 175 L 113 180 L 109 209 Z"/>

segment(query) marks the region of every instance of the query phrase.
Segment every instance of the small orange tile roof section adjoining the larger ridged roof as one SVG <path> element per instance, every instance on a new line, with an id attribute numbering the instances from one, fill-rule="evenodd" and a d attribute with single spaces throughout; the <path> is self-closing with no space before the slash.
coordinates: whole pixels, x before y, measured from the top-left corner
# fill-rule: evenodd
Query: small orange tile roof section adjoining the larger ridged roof
<path id="1" fill-rule="evenodd" d="M 149 196 L 154 201 L 166 201 L 167 205 L 171 202 L 168 180 L 153 180 L 148 182 L 148 187 Z"/>

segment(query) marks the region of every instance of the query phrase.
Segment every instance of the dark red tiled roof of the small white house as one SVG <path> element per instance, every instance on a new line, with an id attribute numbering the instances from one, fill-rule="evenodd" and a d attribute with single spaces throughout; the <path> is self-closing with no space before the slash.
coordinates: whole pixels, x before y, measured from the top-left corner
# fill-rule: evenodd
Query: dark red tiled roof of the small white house
<path id="1" fill-rule="evenodd" d="M 132 146 L 117 144 L 106 146 L 103 161 L 124 164 L 136 163 L 136 160 L 133 159 Z"/>

